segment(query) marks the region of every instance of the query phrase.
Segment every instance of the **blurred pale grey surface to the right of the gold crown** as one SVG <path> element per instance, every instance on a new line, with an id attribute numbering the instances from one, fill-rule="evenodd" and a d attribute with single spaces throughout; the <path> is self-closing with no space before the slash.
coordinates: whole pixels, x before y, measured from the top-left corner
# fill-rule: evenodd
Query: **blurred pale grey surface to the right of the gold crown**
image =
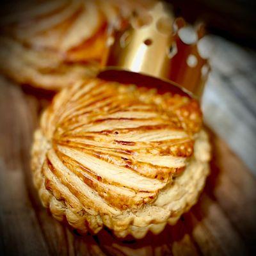
<path id="1" fill-rule="evenodd" d="M 205 122 L 256 175 L 256 54 L 212 35 L 201 46 L 212 48 L 202 100 Z"/>

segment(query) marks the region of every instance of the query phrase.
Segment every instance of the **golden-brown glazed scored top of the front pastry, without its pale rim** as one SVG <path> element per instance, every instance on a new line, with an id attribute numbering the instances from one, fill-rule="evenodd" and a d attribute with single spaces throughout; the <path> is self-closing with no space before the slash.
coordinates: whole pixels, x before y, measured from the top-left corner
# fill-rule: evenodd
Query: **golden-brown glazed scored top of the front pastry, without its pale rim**
<path id="1" fill-rule="evenodd" d="M 88 189 L 86 204 L 95 211 L 142 207 L 184 170 L 201 123 L 198 103 L 187 97 L 97 79 L 79 83 L 42 116 L 45 168 L 60 177 L 68 169 L 65 186 L 79 200 Z"/>

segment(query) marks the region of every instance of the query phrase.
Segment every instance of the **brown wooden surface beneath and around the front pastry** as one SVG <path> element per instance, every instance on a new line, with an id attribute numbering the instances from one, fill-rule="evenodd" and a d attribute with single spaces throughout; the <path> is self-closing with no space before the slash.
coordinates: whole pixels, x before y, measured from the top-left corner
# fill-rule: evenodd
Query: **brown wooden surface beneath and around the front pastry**
<path id="1" fill-rule="evenodd" d="M 0 79 L 0 255 L 255 255 L 256 182 L 211 131 L 211 175 L 191 211 L 159 236 L 77 236 L 54 220 L 31 182 L 29 151 L 44 97 Z M 46 95 L 47 96 L 47 95 Z"/>

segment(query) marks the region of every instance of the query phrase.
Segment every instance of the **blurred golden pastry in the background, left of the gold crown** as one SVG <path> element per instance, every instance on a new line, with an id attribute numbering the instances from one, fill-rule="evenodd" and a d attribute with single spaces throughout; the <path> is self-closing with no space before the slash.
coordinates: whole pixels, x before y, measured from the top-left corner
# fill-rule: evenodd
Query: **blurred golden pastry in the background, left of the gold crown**
<path id="1" fill-rule="evenodd" d="M 0 71 L 21 84 L 59 90 L 97 72 L 109 24 L 145 4 L 131 0 L 40 0 L 0 18 Z M 15 8 L 17 10 L 15 10 Z"/>

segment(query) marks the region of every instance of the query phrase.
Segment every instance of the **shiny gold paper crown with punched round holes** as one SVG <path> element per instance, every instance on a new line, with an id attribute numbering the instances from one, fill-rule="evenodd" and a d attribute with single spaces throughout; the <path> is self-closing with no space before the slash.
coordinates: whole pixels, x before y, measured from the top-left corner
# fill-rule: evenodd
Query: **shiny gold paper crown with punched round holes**
<path id="1" fill-rule="evenodd" d="M 192 29 L 175 19 L 166 4 L 134 15 L 129 27 L 109 38 L 103 65 L 171 80 L 195 96 L 202 95 L 209 63 L 198 52 L 204 27 Z M 112 39 L 112 42 L 111 42 Z"/>

